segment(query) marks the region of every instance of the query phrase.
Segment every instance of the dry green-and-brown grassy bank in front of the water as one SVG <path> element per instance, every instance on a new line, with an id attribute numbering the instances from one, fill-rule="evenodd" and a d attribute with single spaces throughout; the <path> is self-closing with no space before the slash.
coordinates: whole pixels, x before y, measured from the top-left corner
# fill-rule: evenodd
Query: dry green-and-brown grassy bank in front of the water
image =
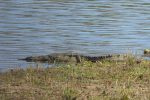
<path id="1" fill-rule="evenodd" d="M 1 100 L 149 100 L 150 61 L 83 61 L 0 73 Z"/>

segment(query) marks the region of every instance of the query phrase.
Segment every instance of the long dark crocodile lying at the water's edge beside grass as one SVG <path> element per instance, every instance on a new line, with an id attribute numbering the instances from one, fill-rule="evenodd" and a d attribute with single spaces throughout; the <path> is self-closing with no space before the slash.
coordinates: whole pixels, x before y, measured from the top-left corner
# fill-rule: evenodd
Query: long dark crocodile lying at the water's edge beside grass
<path id="1" fill-rule="evenodd" d="M 120 55 L 115 55 L 120 56 Z M 91 61 L 97 62 L 103 59 L 112 58 L 114 55 L 106 55 L 106 56 L 84 56 L 77 53 L 53 53 L 49 55 L 43 56 L 30 56 L 19 60 L 25 60 L 27 62 L 76 62 L 80 63 L 81 61 Z"/>

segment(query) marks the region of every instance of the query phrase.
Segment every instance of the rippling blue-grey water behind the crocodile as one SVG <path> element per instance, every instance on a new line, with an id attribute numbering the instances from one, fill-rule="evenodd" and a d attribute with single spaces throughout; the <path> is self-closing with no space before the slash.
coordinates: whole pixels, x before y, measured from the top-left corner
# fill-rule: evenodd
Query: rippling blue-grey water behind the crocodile
<path id="1" fill-rule="evenodd" d="M 0 0 L 0 69 L 54 52 L 141 54 L 149 43 L 149 0 Z"/>

